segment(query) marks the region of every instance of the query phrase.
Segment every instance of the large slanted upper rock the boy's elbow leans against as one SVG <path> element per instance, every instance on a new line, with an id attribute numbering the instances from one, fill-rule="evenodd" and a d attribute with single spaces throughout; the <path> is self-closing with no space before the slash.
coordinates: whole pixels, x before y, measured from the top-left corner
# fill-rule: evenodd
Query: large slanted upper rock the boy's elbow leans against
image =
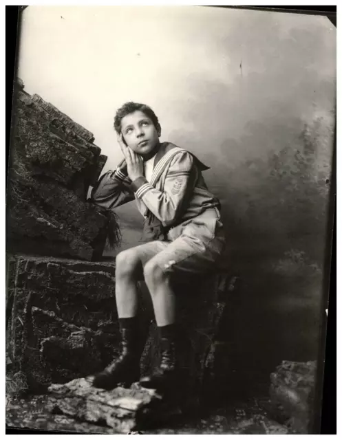
<path id="1" fill-rule="evenodd" d="M 113 213 L 86 202 L 107 159 L 94 136 L 17 85 L 8 173 L 7 239 L 12 252 L 94 260 Z"/>

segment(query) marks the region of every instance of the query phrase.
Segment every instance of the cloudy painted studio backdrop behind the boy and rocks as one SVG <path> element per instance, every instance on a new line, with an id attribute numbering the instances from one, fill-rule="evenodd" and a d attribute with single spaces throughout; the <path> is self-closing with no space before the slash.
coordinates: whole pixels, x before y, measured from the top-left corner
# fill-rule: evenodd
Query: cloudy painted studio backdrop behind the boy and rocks
<path id="1" fill-rule="evenodd" d="M 25 90 L 94 133 L 108 156 L 103 173 L 121 159 L 113 118 L 128 100 L 156 111 L 162 141 L 211 167 L 205 179 L 228 237 L 222 266 L 240 280 L 221 329 L 229 370 L 244 377 L 239 392 L 268 382 L 281 360 L 321 353 L 335 58 L 325 17 L 208 7 L 23 13 Z M 135 204 L 116 213 L 122 249 L 138 244 Z"/>

